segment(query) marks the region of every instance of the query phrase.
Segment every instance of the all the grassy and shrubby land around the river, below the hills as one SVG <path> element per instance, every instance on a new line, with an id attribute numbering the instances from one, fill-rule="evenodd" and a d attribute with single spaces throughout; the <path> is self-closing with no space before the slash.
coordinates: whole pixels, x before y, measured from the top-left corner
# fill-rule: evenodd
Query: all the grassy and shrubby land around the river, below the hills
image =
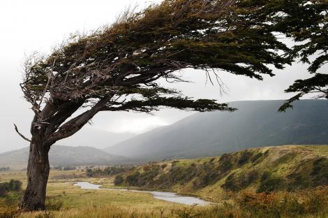
<path id="1" fill-rule="evenodd" d="M 328 217 L 328 146 L 262 147 L 221 157 L 151 162 L 145 166 L 51 170 L 47 211 L 17 212 L 22 191 L 0 197 L 0 217 L 57 218 L 280 218 Z M 75 178 L 70 178 L 70 175 Z M 1 184 L 26 185 L 24 171 L 0 173 Z M 59 179 L 56 179 L 59 178 Z M 61 179 L 66 177 L 66 179 Z M 200 196 L 210 205 L 181 205 L 151 194 L 88 190 L 75 181 L 103 187 L 163 189 Z M 12 184 L 12 185 L 11 185 Z"/>

